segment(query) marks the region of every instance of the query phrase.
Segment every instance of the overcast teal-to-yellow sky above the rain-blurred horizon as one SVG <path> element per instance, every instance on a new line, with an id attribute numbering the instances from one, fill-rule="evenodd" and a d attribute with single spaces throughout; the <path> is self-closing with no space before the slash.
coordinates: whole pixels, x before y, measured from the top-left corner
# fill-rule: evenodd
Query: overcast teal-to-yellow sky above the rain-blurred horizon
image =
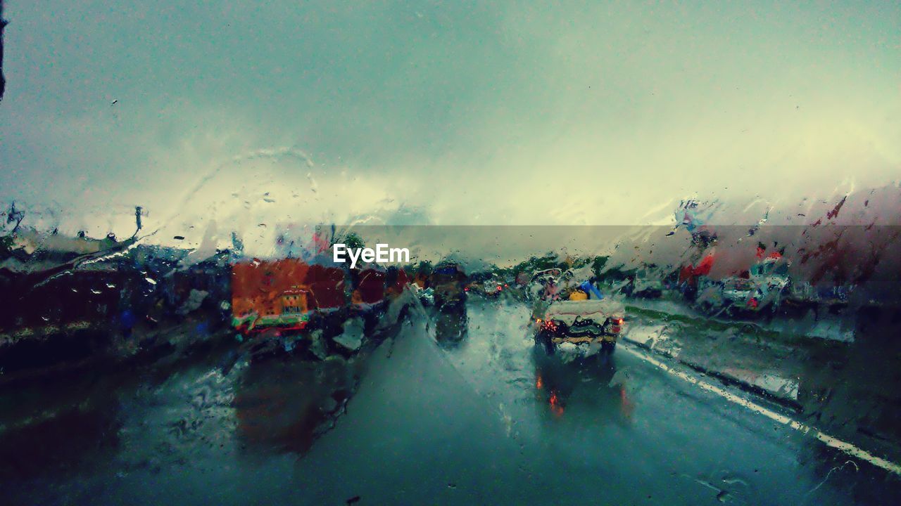
<path id="1" fill-rule="evenodd" d="M 95 233 L 636 224 L 901 175 L 896 2 L 262 4 L 6 0 L 0 198 Z"/>

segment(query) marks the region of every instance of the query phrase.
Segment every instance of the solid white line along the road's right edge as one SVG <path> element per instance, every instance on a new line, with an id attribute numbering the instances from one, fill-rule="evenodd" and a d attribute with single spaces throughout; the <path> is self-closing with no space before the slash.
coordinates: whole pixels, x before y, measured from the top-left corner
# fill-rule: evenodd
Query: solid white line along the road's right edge
<path id="1" fill-rule="evenodd" d="M 825 432 L 816 429 L 815 427 L 811 427 L 805 425 L 797 420 L 792 420 L 791 418 L 779 414 L 776 411 L 768 410 L 760 404 L 755 404 L 754 402 L 748 401 L 747 399 L 742 399 L 742 397 L 735 395 L 734 393 L 728 392 L 715 384 L 709 384 L 707 382 L 701 381 L 692 375 L 687 375 L 686 373 L 679 371 L 671 366 L 660 362 L 660 360 L 649 357 L 648 355 L 642 353 L 637 349 L 633 349 L 632 347 L 623 347 L 625 351 L 633 354 L 635 357 L 639 357 L 645 362 L 651 364 L 652 366 L 656 366 L 662 371 L 669 373 L 670 375 L 674 375 L 679 379 L 682 379 L 690 384 L 694 384 L 701 389 L 706 390 L 707 392 L 716 393 L 717 395 L 724 397 L 727 401 L 734 402 L 745 408 L 748 408 L 751 411 L 755 411 L 760 413 L 761 415 L 769 418 L 770 420 L 778 421 L 779 423 L 786 425 L 787 427 L 791 427 L 792 429 L 798 430 L 804 434 L 808 434 L 813 436 L 814 438 L 822 441 L 827 447 L 833 447 L 841 450 L 842 452 L 860 458 L 860 460 L 865 460 L 872 465 L 876 465 L 881 467 L 889 472 L 895 474 L 901 474 L 901 465 L 897 465 L 894 462 L 888 461 L 882 457 L 875 456 L 869 453 L 867 450 L 864 450 L 860 447 L 855 447 L 851 443 L 846 443 L 839 438 L 833 438 L 832 436 L 826 434 Z"/>

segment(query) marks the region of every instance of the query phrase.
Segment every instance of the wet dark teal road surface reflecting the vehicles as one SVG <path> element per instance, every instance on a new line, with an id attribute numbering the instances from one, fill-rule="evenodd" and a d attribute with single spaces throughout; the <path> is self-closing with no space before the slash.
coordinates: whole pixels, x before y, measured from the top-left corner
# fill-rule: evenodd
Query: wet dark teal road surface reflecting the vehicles
<path id="1" fill-rule="evenodd" d="M 896 476 L 698 389 L 628 347 L 532 345 L 469 303 L 365 357 L 80 376 L 3 393 L 0 485 L 23 504 L 887 504 Z M 736 392 L 739 395 L 744 393 Z M 774 408 L 775 409 L 775 408 Z"/>

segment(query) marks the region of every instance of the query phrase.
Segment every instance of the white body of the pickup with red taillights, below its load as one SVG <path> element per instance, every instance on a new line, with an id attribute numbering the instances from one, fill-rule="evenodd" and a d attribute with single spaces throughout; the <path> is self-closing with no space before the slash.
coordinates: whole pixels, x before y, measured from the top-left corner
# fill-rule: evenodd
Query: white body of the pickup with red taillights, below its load
<path id="1" fill-rule="evenodd" d="M 552 354 L 560 343 L 598 343 L 613 353 L 623 331 L 625 308 L 610 300 L 537 303 L 532 312 L 535 342 Z"/>

